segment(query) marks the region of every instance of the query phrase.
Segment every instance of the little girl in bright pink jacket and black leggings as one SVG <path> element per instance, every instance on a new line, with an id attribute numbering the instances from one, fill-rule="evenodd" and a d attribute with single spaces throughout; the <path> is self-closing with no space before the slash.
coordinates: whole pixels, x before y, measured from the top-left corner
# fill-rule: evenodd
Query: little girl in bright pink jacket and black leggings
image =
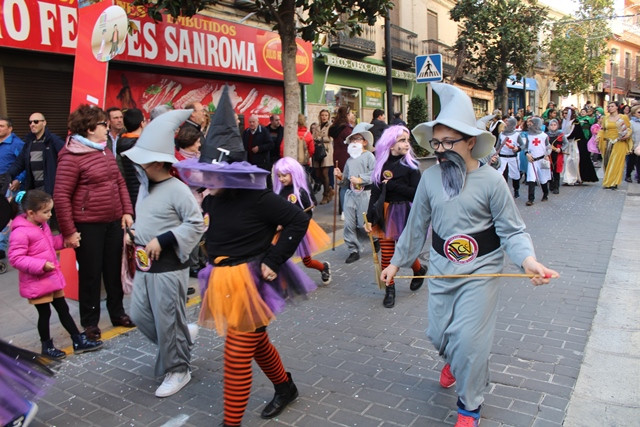
<path id="1" fill-rule="evenodd" d="M 64 239 L 62 235 L 53 236 L 47 224 L 53 199 L 44 191 L 30 190 L 24 195 L 19 194 L 16 202 L 22 202 L 24 213 L 11 223 L 9 262 L 19 271 L 20 295 L 38 310 L 42 354 L 54 359 L 66 356 L 64 351 L 53 346 L 49 332 L 49 304 L 56 309 L 60 323 L 71 335 L 74 353 L 99 349 L 102 341 L 91 341 L 80 333 L 64 299 L 65 281 L 56 257 L 56 250 L 63 248 Z"/>

